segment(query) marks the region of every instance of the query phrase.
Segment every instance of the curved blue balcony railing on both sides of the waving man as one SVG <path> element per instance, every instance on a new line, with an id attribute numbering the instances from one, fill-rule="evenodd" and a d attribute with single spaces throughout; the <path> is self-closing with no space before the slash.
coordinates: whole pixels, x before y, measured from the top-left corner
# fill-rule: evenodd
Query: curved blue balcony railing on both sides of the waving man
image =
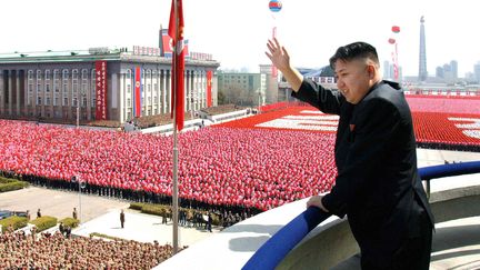
<path id="1" fill-rule="evenodd" d="M 419 173 L 422 180 L 429 183 L 431 179 L 471 174 L 480 172 L 480 161 L 450 163 L 420 168 Z M 273 234 L 260 249 L 250 258 L 242 269 L 274 269 L 283 258 L 292 250 L 313 228 L 323 222 L 331 214 L 310 207 L 276 234 Z"/>

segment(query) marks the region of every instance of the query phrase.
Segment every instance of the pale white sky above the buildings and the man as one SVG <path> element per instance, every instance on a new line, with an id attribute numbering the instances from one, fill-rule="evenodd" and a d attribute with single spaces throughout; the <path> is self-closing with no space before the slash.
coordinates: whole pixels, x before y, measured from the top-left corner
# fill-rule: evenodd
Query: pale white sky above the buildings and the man
<path id="1" fill-rule="evenodd" d="M 190 51 L 212 53 L 221 69 L 259 71 L 269 63 L 267 40 L 277 37 L 294 67 L 328 64 L 336 49 L 366 41 L 380 61 L 391 61 L 398 42 L 403 76 L 417 76 L 420 17 L 424 16 L 427 68 L 457 60 L 459 76 L 480 61 L 477 1 L 457 0 L 282 0 L 271 12 L 268 0 L 183 0 L 184 34 Z M 171 0 L 16 0 L 2 1 L 0 52 L 87 50 L 90 47 L 158 46 L 168 27 Z M 392 26 L 401 31 L 393 33 Z"/>

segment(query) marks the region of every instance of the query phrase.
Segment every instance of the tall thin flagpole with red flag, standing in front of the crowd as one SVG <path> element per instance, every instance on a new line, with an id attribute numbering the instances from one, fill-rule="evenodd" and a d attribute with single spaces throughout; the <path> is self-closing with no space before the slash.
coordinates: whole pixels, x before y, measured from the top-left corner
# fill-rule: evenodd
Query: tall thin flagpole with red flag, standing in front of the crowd
<path id="1" fill-rule="evenodd" d="M 172 219 L 173 219 L 173 254 L 178 252 L 178 138 L 177 138 L 177 59 L 178 59 L 178 48 L 177 42 L 179 39 L 179 17 L 178 17 L 178 2 L 174 2 L 173 14 L 176 20 L 176 38 L 173 41 L 173 63 L 172 63 L 172 84 L 173 84 L 173 191 L 172 191 L 172 200 L 173 200 L 173 209 L 172 209 Z"/>

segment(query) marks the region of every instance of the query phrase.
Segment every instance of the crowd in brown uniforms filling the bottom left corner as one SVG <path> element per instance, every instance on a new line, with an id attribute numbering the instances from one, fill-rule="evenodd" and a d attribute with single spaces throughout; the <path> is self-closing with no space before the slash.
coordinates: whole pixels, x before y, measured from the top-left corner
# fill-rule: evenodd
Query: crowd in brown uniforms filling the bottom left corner
<path id="1" fill-rule="evenodd" d="M 9 230 L 0 236 L 0 269 L 151 269 L 170 258 L 172 250 L 158 242 Z"/>

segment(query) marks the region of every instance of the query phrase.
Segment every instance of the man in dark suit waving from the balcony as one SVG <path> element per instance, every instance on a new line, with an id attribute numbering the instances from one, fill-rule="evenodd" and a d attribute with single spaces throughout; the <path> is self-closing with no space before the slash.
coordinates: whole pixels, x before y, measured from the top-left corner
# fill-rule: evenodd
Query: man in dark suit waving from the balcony
<path id="1" fill-rule="evenodd" d="M 334 91 L 304 79 L 276 39 L 267 46 L 294 98 L 340 116 L 336 184 L 307 206 L 348 216 L 362 269 L 429 269 L 433 217 L 418 174 L 412 118 L 400 86 L 382 80 L 376 49 L 354 42 L 337 50 Z"/>

